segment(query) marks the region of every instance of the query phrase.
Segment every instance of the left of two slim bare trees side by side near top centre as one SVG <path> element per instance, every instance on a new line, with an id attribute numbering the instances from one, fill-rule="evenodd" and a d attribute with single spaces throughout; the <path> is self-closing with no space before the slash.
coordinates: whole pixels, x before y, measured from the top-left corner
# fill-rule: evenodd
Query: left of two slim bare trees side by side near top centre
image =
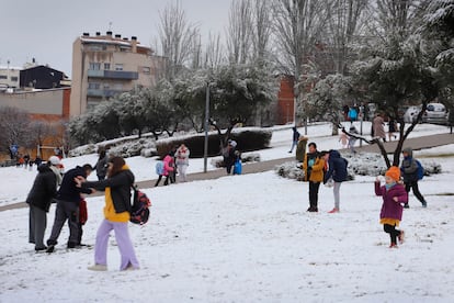
<path id="1" fill-rule="evenodd" d="M 245 64 L 248 60 L 251 20 L 250 0 L 234 0 L 230 5 L 227 30 L 227 50 L 230 64 Z"/>

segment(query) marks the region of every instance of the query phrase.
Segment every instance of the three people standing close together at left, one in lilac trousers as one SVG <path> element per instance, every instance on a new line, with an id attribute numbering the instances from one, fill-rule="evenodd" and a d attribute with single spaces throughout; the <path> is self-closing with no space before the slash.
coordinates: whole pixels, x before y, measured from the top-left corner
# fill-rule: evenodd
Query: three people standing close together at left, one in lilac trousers
<path id="1" fill-rule="evenodd" d="M 87 210 L 82 207 L 84 205 L 83 194 L 104 191 L 104 220 L 97 233 L 94 265 L 89 269 L 98 271 L 107 269 L 107 240 L 112 229 L 121 254 L 120 269 L 138 269 L 139 263 L 128 234 L 132 211 L 130 188 L 134 184 L 134 175 L 125 160 L 122 157 L 106 158 L 105 153 L 100 153 L 95 165 L 98 181 L 87 181 L 87 177 L 94 170 L 90 164 L 77 166 L 63 176 L 58 165 L 60 165 L 60 159 L 52 156 L 46 164 L 38 167 L 38 175 L 26 199 L 30 205 L 29 242 L 35 245 L 35 250 L 54 252 L 66 222 L 69 226 L 67 248 L 82 246 L 82 225 L 87 221 Z M 53 202 L 56 203 L 55 221 L 50 236 L 45 244 L 46 217 Z"/>

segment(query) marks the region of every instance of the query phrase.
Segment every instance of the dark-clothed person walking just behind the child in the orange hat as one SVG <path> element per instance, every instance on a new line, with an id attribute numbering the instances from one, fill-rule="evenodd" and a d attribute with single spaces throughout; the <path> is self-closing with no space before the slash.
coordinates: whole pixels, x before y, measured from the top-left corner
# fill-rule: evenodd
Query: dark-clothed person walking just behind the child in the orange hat
<path id="1" fill-rule="evenodd" d="M 404 176 L 405 190 L 410 192 L 410 189 L 412 189 L 415 197 L 421 202 L 422 207 L 427 207 L 428 202 L 419 191 L 418 187 L 418 164 L 413 158 L 413 150 L 410 147 L 404 148 L 402 155 L 404 160 L 400 166 L 400 171 Z M 406 204 L 406 207 L 409 207 L 408 203 Z"/>

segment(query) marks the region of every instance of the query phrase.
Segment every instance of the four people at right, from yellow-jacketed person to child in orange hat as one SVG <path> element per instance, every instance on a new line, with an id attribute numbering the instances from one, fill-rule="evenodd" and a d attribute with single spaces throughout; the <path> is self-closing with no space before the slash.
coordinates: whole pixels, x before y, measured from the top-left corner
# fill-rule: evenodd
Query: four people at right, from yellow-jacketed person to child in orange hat
<path id="1" fill-rule="evenodd" d="M 404 207 L 409 207 L 408 193 L 413 191 L 416 198 L 427 207 L 427 201 L 418 187 L 418 164 L 412 157 L 412 149 L 402 150 L 404 160 L 399 167 L 390 167 L 385 173 L 385 184 L 381 184 L 381 178 L 375 181 L 375 194 L 383 198 L 381 210 L 381 224 L 385 233 L 389 234 L 390 248 L 397 247 L 397 240 L 404 243 L 404 231 L 396 229 L 402 218 Z M 342 158 L 338 150 L 318 152 L 317 145 L 308 144 L 308 152 L 303 161 L 305 181 L 309 182 L 308 212 L 318 212 L 318 192 L 321 183 L 333 188 L 334 207 L 329 213 L 340 211 L 340 187 L 348 178 L 348 160 Z M 332 180 L 331 180 L 332 179 Z"/>

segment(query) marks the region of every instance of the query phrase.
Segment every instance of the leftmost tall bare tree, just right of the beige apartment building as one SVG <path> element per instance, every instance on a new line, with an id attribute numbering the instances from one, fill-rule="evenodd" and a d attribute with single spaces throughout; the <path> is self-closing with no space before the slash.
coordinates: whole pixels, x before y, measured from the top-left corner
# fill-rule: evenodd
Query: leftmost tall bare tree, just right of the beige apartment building
<path id="1" fill-rule="evenodd" d="M 194 43 L 200 40 L 198 27 L 186 20 L 181 1 L 170 3 L 159 13 L 159 37 L 162 55 L 167 57 L 166 74 L 173 79 L 194 54 Z"/>

